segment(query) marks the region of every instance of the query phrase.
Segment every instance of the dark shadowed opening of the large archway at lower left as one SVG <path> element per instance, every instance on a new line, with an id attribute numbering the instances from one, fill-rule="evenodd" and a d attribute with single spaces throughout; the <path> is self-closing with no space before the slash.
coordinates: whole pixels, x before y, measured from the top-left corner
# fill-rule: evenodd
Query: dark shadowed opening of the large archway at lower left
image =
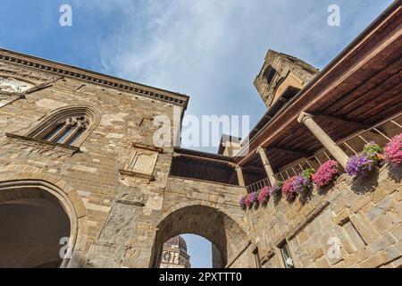
<path id="1" fill-rule="evenodd" d="M 0 268 L 53 268 L 66 264 L 63 240 L 71 222 L 46 190 L 0 189 Z M 63 239 L 63 240 L 62 240 Z"/>

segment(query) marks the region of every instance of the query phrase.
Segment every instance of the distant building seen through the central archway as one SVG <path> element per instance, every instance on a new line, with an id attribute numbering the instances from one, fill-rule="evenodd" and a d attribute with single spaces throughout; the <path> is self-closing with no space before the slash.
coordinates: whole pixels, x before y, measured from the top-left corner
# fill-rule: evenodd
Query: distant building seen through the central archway
<path id="1" fill-rule="evenodd" d="M 191 268 L 187 243 L 180 235 L 163 243 L 161 268 Z"/>

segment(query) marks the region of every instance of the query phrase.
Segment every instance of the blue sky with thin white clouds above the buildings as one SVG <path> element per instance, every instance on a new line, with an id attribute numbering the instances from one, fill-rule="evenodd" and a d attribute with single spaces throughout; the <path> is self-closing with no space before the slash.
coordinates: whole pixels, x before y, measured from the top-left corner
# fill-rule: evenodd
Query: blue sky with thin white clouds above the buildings
<path id="1" fill-rule="evenodd" d="M 265 112 L 253 81 L 269 48 L 322 69 L 391 3 L 2 0 L 0 46 L 179 91 L 191 97 L 187 114 L 249 115 L 253 126 Z M 62 4 L 72 27 L 59 25 Z M 330 4 L 340 27 L 327 24 Z"/>

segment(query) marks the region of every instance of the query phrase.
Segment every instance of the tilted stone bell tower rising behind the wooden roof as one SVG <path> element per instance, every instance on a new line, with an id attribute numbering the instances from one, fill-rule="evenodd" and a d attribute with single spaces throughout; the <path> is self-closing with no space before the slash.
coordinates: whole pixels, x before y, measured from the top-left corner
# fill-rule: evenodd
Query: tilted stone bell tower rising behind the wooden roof
<path id="1" fill-rule="evenodd" d="M 266 107 L 270 108 L 285 94 L 287 97 L 289 93 L 296 95 L 317 73 L 314 66 L 294 56 L 269 50 L 254 85 Z"/>

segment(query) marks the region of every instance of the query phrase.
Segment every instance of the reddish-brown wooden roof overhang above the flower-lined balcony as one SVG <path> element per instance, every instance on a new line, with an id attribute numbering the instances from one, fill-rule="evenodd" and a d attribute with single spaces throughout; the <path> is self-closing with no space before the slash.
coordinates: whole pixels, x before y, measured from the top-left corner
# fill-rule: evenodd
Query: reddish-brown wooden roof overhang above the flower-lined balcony
<path id="1" fill-rule="evenodd" d="M 267 147 L 270 163 L 278 170 L 320 150 L 322 144 L 297 122 L 302 111 L 314 114 L 335 141 L 400 113 L 401 55 L 402 8 L 396 1 L 279 113 L 265 119 L 264 127 L 250 133 L 235 163 L 261 167 L 256 149 Z"/>

